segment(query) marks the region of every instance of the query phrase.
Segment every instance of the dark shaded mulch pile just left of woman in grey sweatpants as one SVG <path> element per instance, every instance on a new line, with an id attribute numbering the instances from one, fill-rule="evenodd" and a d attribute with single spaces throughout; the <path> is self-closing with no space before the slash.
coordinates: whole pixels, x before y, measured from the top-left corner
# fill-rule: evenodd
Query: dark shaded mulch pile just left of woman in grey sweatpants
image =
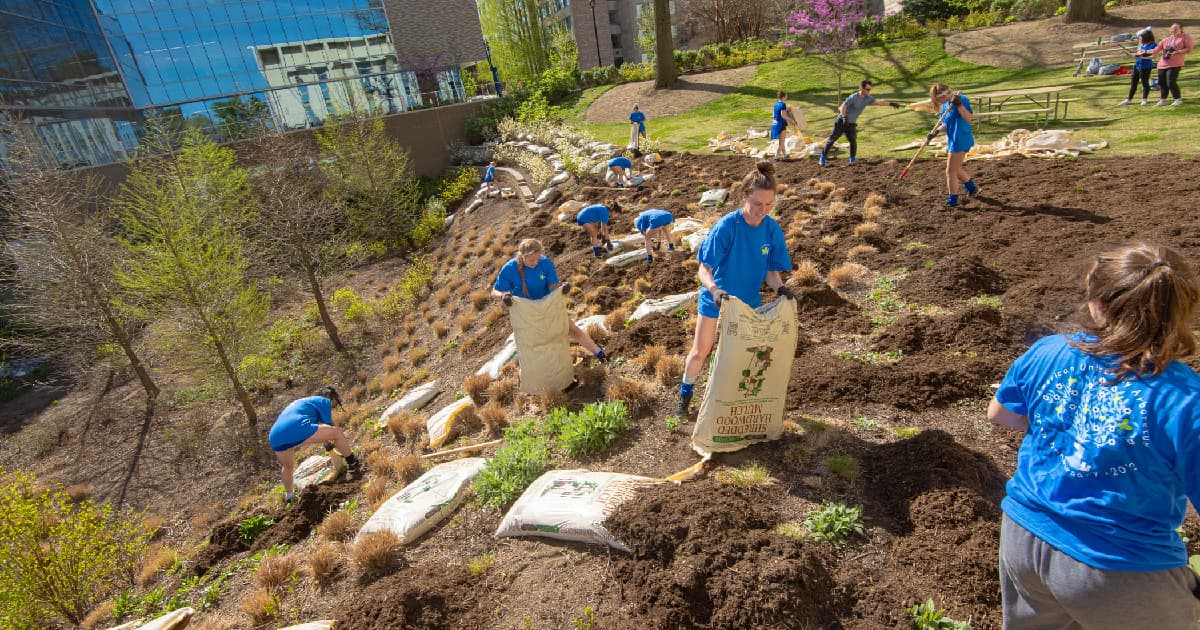
<path id="1" fill-rule="evenodd" d="M 1004 475 L 986 455 L 938 430 L 874 446 L 863 457 L 863 478 L 870 511 L 898 533 L 995 520 L 1004 493 Z"/>

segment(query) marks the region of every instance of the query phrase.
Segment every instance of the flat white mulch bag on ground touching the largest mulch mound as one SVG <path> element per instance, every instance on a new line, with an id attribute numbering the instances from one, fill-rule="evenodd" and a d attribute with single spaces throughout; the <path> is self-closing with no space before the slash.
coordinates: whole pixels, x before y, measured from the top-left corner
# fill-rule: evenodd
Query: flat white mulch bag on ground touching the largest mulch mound
<path id="1" fill-rule="evenodd" d="M 534 481 L 504 515 L 497 538 L 545 536 L 593 542 L 629 552 L 604 521 L 634 497 L 640 486 L 655 481 L 620 473 L 551 470 Z"/>

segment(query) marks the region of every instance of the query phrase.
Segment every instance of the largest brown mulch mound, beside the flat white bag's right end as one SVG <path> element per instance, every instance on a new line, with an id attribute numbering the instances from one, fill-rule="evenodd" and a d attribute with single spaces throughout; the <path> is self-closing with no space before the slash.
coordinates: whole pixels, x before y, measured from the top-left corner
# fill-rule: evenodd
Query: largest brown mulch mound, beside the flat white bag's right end
<path id="1" fill-rule="evenodd" d="M 774 491 L 704 480 L 653 486 L 608 529 L 632 551 L 616 575 L 631 607 L 622 628 L 826 628 L 845 612 L 815 545 L 770 533 Z"/>

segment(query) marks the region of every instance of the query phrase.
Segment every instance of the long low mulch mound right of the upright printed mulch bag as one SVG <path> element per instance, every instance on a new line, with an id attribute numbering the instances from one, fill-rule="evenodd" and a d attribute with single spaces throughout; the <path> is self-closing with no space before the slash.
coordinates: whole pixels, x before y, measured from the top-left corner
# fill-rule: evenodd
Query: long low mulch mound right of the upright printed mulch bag
<path id="1" fill-rule="evenodd" d="M 984 358 L 905 356 L 895 365 L 869 364 L 806 352 L 792 365 L 788 400 L 805 404 L 892 404 L 899 409 L 946 407 L 990 395 L 988 385 L 1007 365 Z"/>

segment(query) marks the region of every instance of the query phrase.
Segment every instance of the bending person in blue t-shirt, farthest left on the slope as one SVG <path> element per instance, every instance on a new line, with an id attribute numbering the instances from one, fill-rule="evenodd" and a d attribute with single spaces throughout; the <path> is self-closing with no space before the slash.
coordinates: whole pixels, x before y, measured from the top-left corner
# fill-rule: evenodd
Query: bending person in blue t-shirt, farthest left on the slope
<path id="1" fill-rule="evenodd" d="M 359 469 L 359 458 L 350 451 L 346 433 L 334 426 L 334 403 L 342 406 L 342 398 L 334 388 L 324 388 L 316 396 L 288 403 L 271 425 L 268 443 L 283 469 L 283 500 L 292 503 L 295 497 L 296 446 L 332 442 L 337 452 L 346 457 L 352 473 Z"/>

